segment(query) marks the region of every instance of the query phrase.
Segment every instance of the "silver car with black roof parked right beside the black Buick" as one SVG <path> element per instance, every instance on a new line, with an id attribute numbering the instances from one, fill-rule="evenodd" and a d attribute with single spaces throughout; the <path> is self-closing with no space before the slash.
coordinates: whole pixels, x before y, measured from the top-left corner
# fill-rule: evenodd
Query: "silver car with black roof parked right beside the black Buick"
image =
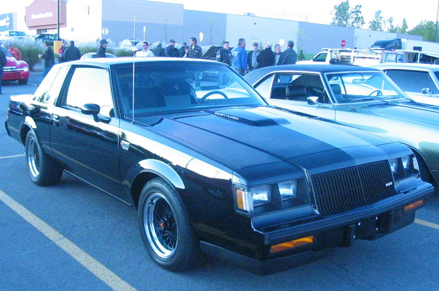
<path id="1" fill-rule="evenodd" d="M 384 72 L 283 65 L 245 75 L 269 104 L 364 129 L 409 146 L 424 180 L 439 182 L 439 107 L 412 101 Z"/>

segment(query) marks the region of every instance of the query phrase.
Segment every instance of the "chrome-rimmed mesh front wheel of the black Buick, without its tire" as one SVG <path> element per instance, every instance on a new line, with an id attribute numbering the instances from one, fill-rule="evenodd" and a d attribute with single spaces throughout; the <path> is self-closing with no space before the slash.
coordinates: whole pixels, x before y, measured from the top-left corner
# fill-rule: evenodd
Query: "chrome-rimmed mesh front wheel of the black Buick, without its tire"
<path id="1" fill-rule="evenodd" d="M 155 255 L 169 259 L 177 247 L 177 225 L 169 201 L 160 193 L 152 193 L 144 204 L 143 221 L 148 243 Z"/>

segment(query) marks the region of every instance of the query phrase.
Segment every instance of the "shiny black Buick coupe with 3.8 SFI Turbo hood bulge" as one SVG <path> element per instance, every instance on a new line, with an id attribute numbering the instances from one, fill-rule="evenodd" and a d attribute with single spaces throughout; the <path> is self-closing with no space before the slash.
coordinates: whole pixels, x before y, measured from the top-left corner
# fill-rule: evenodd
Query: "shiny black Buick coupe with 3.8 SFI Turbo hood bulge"
<path id="1" fill-rule="evenodd" d="M 201 252 L 255 273 L 301 265 L 407 226 L 433 191 L 409 147 L 270 107 L 223 63 L 134 61 L 55 65 L 11 97 L 6 129 L 37 185 L 64 170 L 136 206 L 163 268 Z"/>

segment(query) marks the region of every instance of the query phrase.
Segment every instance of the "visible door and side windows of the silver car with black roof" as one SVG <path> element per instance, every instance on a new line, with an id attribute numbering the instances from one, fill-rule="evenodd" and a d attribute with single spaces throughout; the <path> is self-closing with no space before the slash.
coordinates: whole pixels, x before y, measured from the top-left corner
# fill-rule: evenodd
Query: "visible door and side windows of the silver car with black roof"
<path id="1" fill-rule="evenodd" d="M 276 73 L 254 87 L 270 105 L 335 120 L 334 105 L 319 74 Z M 308 104 L 308 97 L 319 97 L 320 104 Z"/>

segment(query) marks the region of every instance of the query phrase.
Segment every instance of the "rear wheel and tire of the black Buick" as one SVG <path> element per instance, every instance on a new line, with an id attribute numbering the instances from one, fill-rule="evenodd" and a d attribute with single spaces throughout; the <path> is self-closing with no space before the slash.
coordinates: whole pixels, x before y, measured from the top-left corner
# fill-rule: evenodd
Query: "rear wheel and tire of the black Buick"
<path id="1" fill-rule="evenodd" d="M 61 180 L 62 168 L 43 152 L 32 130 L 26 136 L 25 152 L 26 165 L 33 183 L 47 186 Z"/>

